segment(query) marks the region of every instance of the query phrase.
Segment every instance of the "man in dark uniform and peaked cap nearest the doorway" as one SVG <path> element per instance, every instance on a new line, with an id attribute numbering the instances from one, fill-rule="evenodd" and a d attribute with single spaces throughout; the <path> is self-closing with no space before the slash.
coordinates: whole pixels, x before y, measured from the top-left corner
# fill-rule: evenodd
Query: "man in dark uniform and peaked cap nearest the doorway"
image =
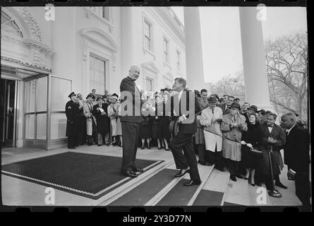
<path id="1" fill-rule="evenodd" d="M 68 137 L 68 148 L 76 149 L 78 139 L 78 128 L 80 124 L 80 109 L 74 92 L 68 95 L 71 100 L 66 103 L 66 136 Z"/>

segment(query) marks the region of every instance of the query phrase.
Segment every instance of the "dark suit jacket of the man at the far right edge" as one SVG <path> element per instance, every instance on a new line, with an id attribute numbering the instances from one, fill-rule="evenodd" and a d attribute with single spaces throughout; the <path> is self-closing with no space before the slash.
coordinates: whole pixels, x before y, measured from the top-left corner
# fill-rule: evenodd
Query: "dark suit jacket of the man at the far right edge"
<path id="1" fill-rule="evenodd" d="M 286 136 L 284 163 L 298 173 L 308 172 L 309 146 L 308 131 L 296 124 Z"/>

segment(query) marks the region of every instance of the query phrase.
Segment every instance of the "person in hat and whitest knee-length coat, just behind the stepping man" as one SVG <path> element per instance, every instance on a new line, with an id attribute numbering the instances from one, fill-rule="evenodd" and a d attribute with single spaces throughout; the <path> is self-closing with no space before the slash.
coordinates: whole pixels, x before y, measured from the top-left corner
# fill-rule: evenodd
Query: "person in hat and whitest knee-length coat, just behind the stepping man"
<path id="1" fill-rule="evenodd" d="M 209 106 L 203 109 L 200 116 L 200 124 L 204 126 L 205 138 L 205 157 L 201 156 L 209 162 L 209 165 L 215 164 L 215 167 L 220 171 L 224 171 L 222 166 L 222 131 L 220 123 L 222 120 L 222 109 L 216 107 L 217 99 L 215 96 L 210 96 L 208 100 Z M 206 159 L 206 155 L 208 155 Z"/>

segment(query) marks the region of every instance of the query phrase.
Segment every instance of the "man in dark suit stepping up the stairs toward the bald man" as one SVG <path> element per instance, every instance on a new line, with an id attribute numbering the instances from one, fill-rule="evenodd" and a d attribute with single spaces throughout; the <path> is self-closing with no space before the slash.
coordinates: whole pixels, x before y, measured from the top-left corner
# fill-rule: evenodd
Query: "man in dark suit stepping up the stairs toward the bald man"
<path id="1" fill-rule="evenodd" d="M 200 111 L 200 107 L 197 104 L 197 100 L 195 100 L 193 91 L 186 89 L 186 80 L 184 78 L 176 78 L 174 80 L 174 89 L 178 93 L 178 95 L 174 96 L 173 101 L 174 106 L 178 106 L 176 104 L 179 102 L 179 109 L 174 107 L 174 112 L 179 122 L 179 133 L 170 142 L 169 146 L 172 155 L 174 155 L 176 168 L 180 169 L 175 177 L 183 177 L 184 174 L 189 172 L 191 180 L 183 185 L 199 185 L 201 181 L 198 172 L 198 162 L 193 149 L 193 134 L 196 132 L 195 113 Z M 186 112 L 184 112 L 183 107 L 185 103 Z"/>

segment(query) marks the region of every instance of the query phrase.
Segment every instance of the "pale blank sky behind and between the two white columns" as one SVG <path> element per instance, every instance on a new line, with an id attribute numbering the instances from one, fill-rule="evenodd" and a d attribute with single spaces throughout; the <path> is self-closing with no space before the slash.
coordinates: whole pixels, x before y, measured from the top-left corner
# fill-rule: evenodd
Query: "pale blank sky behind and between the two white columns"
<path id="1" fill-rule="evenodd" d="M 184 23 L 183 7 L 171 7 Z M 306 32 L 305 7 L 267 7 L 262 22 L 264 40 Z M 238 7 L 200 7 L 205 82 L 215 83 L 242 68 Z"/>

